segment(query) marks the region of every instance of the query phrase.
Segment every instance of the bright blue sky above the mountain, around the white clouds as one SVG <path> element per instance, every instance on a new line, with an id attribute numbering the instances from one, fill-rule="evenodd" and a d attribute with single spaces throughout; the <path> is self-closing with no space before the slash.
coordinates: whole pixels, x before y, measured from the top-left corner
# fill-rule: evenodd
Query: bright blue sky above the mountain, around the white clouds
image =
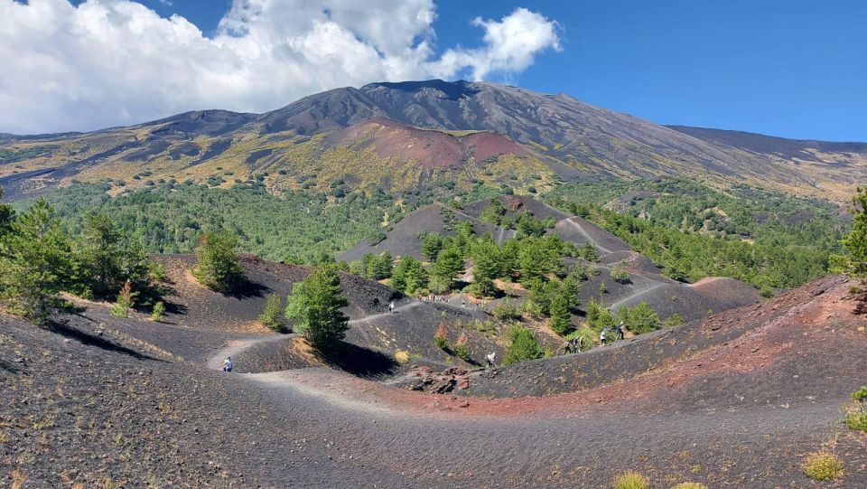
<path id="1" fill-rule="evenodd" d="M 141 3 L 162 17 L 182 15 L 206 37 L 217 35 L 219 20 L 231 5 L 230 0 Z M 867 141 L 867 2 L 442 0 L 436 2 L 431 26 L 433 58 L 456 47 L 471 55 L 472 49 L 484 43 L 484 31 L 473 20 L 505 19 L 519 7 L 557 24 L 560 49 L 552 48 L 550 42 L 546 48 L 532 48 L 528 66 L 485 71 L 486 80 L 562 91 L 663 124 Z M 441 67 L 440 71 L 452 75 L 447 78 L 458 78 L 470 75 L 473 69 L 478 67 L 470 63 L 452 71 Z M 408 72 L 438 71 L 427 67 L 426 71 Z M 331 88 L 341 80 L 349 81 L 343 85 L 359 85 L 363 77 L 350 80 L 336 72 L 329 80 L 294 91 L 250 87 L 258 93 L 273 89 L 274 95 L 264 100 L 252 99 L 247 92 L 227 96 L 223 108 L 277 108 L 291 101 L 285 98 Z M 187 99 L 199 105 L 223 101 Z M 115 106 L 126 103 L 118 100 L 113 101 Z M 132 114 L 131 118 L 152 117 L 137 109 L 149 107 L 145 102 L 127 105 L 124 113 Z M 172 101 L 164 105 L 163 112 L 181 107 Z M 93 124 L 114 120 L 107 115 Z"/>

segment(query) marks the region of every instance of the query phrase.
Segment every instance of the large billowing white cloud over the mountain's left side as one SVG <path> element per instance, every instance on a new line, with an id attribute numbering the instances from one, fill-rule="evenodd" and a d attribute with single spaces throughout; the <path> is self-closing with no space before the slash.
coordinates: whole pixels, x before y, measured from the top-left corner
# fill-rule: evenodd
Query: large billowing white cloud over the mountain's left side
<path id="1" fill-rule="evenodd" d="M 234 0 L 216 35 L 129 0 L 0 0 L 0 132 L 133 124 L 200 108 L 266 111 L 380 80 L 475 80 L 560 49 L 519 8 L 476 19 L 479 48 L 434 52 L 433 0 Z"/>

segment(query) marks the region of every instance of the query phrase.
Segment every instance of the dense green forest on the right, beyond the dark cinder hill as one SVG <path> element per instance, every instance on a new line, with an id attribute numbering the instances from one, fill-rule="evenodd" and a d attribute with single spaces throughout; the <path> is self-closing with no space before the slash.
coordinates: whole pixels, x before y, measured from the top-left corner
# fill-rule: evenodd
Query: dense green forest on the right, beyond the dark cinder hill
<path id="1" fill-rule="evenodd" d="M 668 277 L 732 277 L 766 296 L 826 275 L 849 229 L 830 202 L 747 186 L 721 193 L 687 180 L 566 183 L 546 198 L 611 231 Z"/>

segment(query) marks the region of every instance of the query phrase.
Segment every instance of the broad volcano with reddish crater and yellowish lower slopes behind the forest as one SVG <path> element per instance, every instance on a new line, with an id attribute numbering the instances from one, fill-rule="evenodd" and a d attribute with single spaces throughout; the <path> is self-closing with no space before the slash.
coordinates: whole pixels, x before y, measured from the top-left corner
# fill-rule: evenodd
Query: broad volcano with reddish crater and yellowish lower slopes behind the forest
<path id="1" fill-rule="evenodd" d="M 174 179 L 412 194 L 669 175 L 842 202 L 867 177 L 867 144 L 665 127 L 564 94 L 443 80 L 333 89 L 261 115 L 206 110 L 92 133 L 0 135 L 0 186 L 12 199 L 72 179 L 112 179 L 116 192 Z"/>

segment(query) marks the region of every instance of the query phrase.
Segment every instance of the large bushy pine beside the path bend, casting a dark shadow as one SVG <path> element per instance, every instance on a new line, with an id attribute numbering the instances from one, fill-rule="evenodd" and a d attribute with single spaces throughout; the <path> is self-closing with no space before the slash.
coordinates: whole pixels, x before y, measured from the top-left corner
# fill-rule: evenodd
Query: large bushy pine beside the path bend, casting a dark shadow
<path id="1" fill-rule="evenodd" d="M 313 268 L 310 277 L 294 285 L 287 302 L 286 317 L 295 322 L 294 330 L 316 348 L 334 346 L 350 328 L 350 319 L 341 310 L 349 301 L 341 294 L 340 275 L 333 265 Z"/>

